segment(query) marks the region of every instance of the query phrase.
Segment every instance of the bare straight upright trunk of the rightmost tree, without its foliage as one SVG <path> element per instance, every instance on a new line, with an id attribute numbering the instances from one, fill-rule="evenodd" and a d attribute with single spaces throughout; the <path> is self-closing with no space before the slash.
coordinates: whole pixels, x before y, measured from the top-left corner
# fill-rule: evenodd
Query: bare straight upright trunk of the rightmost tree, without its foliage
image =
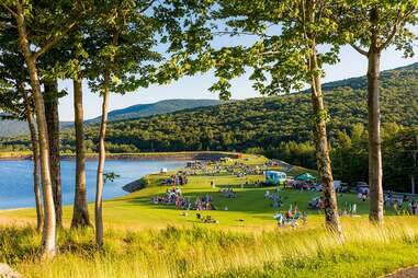
<path id="1" fill-rule="evenodd" d="M 377 25 L 377 9 L 372 9 L 370 20 Z M 383 222 L 382 150 L 381 150 L 381 109 L 380 109 L 380 61 L 377 31 L 372 27 L 368 67 L 368 108 L 369 108 L 369 186 L 370 213 L 372 222 Z"/>

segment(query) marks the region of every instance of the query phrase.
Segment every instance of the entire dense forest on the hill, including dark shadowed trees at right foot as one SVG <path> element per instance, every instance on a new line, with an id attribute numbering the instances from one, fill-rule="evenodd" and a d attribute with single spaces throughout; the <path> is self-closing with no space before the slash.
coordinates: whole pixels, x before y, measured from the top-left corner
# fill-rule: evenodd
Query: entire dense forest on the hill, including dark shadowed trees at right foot
<path id="1" fill-rule="evenodd" d="M 382 73 L 382 121 L 386 130 L 384 147 L 385 142 L 388 142 L 384 152 L 387 157 L 385 167 L 398 163 L 399 155 L 404 162 L 406 159 L 406 163 L 411 163 L 410 153 L 397 155 L 394 146 L 398 137 L 414 138 L 414 134 L 417 132 L 413 128 L 418 125 L 417 77 L 418 63 Z M 363 77 L 324 85 L 330 115 L 328 127 L 337 178 L 366 181 L 365 85 Z M 106 147 L 110 152 L 184 150 L 258 152 L 314 169 L 315 148 L 312 142 L 309 97 L 309 94 L 302 92 L 112 121 L 108 129 Z M 359 129 L 363 130 L 361 136 Z M 87 148 L 90 152 L 97 151 L 97 130 L 98 125 L 90 125 L 86 130 Z M 343 138 L 347 139 L 344 139 L 346 144 L 350 141 L 350 148 L 341 147 Z M 63 130 L 61 144 L 64 153 L 74 152 L 72 129 Z M 30 140 L 29 137 L 7 138 L 1 139 L 1 146 L 3 150 L 26 150 Z M 355 160 L 350 155 L 357 155 Z M 396 160 L 391 160 L 389 157 L 396 157 Z M 350 161 L 358 165 L 347 166 L 346 162 Z M 396 167 L 391 169 L 396 170 Z M 385 171 L 385 175 L 393 186 L 398 187 L 396 184 L 399 184 L 406 190 L 409 177 L 405 174 L 404 167 L 397 169 L 396 173 Z"/>

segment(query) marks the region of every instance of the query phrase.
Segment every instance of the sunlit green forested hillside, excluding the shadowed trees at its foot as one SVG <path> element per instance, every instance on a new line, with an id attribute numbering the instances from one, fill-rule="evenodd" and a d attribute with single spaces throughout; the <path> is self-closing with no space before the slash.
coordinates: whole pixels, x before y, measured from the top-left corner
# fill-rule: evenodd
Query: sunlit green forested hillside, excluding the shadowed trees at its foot
<path id="1" fill-rule="evenodd" d="M 365 78 L 326 84 L 330 114 L 329 135 L 350 132 L 352 125 L 366 125 Z M 418 125 L 418 63 L 382 73 L 382 121 Z M 246 150 L 276 147 L 281 141 L 312 139 L 312 105 L 307 93 L 235 101 L 109 125 L 109 150 Z M 87 128 L 90 149 L 95 148 L 98 125 Z M 27 140 L 3 140 L 26 144 Z M 63 132 L 64 150 L 74 150 L 72 130 Z"/>

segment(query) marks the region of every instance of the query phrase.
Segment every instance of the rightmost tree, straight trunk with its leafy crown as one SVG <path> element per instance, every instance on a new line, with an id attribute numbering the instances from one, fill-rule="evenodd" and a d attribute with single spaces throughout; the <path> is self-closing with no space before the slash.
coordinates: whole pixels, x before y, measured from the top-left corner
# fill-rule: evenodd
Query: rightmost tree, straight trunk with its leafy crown
<path id="1" fill-rule="evenodd" d="M 368 59 L 369 218 L 372 222 L 381 223 L 384 210 L 380 105 L 381 56 L 389 46 L 404 50 L 406 57 L 414 55 L 415 36 L 410 32 L 410 25 L 418 21 L 418 2 L 348 0 L 342 2 L 337 11 L 332 18 L 340 25 L 339 33 Z"/>

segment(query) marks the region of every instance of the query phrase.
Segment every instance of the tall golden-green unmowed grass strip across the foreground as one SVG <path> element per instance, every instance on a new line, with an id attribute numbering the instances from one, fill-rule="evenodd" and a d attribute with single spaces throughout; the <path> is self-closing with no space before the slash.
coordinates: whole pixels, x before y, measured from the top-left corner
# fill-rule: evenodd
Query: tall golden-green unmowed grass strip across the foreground
<path id="1" fill-rule="evenodd" d="M 418 263 L 418 219 L 344 223 L 346 243 L 321 228 L 263 233 L 214 229 L 60 231 L 59 255 L 37 260 L 33 228 L 0 229 L 0 260 L 25 277 L 376 277 Z"/>

